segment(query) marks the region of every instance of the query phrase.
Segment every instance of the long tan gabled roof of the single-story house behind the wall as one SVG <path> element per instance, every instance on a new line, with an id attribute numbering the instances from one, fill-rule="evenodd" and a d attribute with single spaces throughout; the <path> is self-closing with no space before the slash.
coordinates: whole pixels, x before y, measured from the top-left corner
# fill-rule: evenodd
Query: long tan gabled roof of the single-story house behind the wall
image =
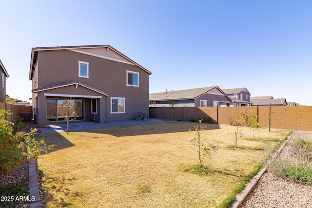
<path id="1" fill-rule="evenodd" d="M 149 94 L 150 101 L 160 101 L 160 100 L 190 100 L 196 99 L 197 97 L 204 95 L 214 89 L 218 89 L 223 95 L 225 95 L 229 100 L 228 97 L 219 87 L 203 87 L 203 88 L 195 88 L 195 89 L 188 89 L 188 90 L 177 90 L 177 91 L 169 91 L 169 92 L 162 92 L 162 93 L 151 93 Z"/>

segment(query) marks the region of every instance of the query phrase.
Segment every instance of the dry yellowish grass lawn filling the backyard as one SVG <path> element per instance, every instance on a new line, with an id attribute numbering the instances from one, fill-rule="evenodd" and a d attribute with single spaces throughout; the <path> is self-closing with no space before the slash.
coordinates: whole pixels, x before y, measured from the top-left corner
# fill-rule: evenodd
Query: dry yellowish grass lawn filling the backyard
<path id="1" fill-rule="evenodd" d="M 49 155 L 38 160 L 46 207 L 217 207 L 259 162 L 266 143 L 274 147 L 288 131 L 207 124 L 207 140 L 219 146 L 204 160 L 207 174 L 185 171 L 199 164 L 190 140 L 194 122 L 161 122 L 37 134 Z M 193 132 L 189 132 L 191 129 Z"/>

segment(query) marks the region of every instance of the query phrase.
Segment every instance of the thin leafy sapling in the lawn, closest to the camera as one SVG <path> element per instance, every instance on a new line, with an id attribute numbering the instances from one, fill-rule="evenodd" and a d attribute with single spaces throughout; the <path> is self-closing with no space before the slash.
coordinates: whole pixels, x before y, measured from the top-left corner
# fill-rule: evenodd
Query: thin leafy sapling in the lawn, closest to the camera
<path id="1" fill-rule="evenodd" d="M 218 146 L 215 146 L 213 144 L 210 144 L 206 141 L 206 138 L 202 136 L 202 132 L 206 129 L 206 126 L 203 125 L 201 122 L 202 120 L 199 120 L 199 126 L 195 126 L 195 136 L 191 140 L 191 145 L 195 146 L 198 152 L 198 159 L 199 159 L 199 166 L 202 168 L 202 162 L 206 156 L 210 158 L 210 155 L 218 150 Z M 189 130 L 189 132 L 192 132 Z"/>

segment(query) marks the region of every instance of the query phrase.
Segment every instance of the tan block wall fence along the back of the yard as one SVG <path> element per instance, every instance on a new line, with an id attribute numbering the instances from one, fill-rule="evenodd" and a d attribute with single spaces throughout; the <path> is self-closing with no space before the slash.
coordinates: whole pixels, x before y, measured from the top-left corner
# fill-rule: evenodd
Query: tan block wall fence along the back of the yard
<path id="1" fill-rule="evenodd" d="M 229 124 L 229 118 L 238 110 L 240 113 L 248 112 L 258 114 L 260 127 L 269 127 L 269 107 L 176 107 L 173 110 L 173 119 L 180 121 L 196 120 L 197 117 L 211 117 L 211 123 Z M 151 118 L 171 120 L 170 107 L 151 107 Z M 271 106 L 271 128 L 312 130 L 312 106 Z"/>

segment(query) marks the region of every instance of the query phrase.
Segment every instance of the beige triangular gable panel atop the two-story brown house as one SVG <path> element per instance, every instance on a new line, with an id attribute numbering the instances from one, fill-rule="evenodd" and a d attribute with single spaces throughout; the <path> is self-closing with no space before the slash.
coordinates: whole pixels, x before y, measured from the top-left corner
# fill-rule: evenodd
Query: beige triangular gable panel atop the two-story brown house
<path id="1" fill-rule="evenodd" d="M 79 49 L 67 49 L 67 50 L 135 65 L 134 63 L 129 61 L 127 58 L 122 57 L 121 55 L 119 55 L 112 49 L 107 50 L 107 48 L 81 48 L 81 49 L 79 48 Z"/>

